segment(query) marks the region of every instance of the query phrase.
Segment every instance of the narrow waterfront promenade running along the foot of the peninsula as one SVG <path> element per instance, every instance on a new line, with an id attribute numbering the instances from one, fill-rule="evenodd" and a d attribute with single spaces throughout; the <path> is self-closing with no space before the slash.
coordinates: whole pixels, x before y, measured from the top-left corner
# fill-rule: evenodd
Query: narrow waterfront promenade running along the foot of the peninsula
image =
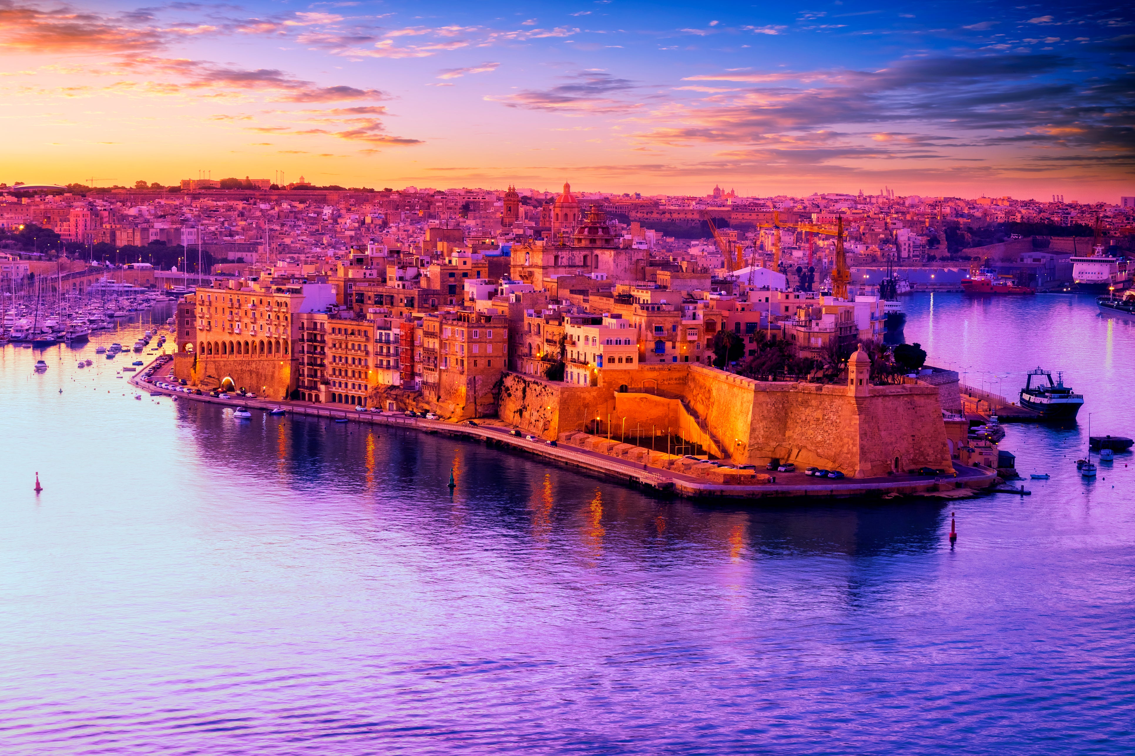
<path id="1" fill-rule="evenodd" d="M 148 369 L 151 362 L 141 372 Z M 168 366 L 168 367 L 167 367 Z M 161 374 L 154 372 L 154 377 L 173 381 L 169 375 L 173 363 L 167 363 Z M 457 439 L 480 441 L 487 444 L 508 448 L 543 457 L 546 460 L 583 469 L 621 481 L 625 484 L 655 490 L 659 493 L 679 495 L 690 499 L 772 499 L 772 498 L 847 498 L 847 496 L 886 496 L 886 495 L 938 495 L 961 498 L 974 495 L 975 492 L 987 489 L 995 483 L 994 470 L 983 467 L 966 467 L 955 462 L 957 477 L 889 475 L 872 478 L 817 479 L 798 473 L 775 473 L 775 482 L 756 485 L 732 485 L 708 482 L 679 470 L 661 469 L 646 464 L 631 462 L 589 449 L 564 444 L 550 445 L 536 439 L 528 440 L 523 434 L 515 435 L 518 427 L 497 418 L 484 418 L 471 424 L 468 421 L 452 423 L 447 421 L 429 421 L 421 417 L 406 417 L 404 414 L 384 411 L 355 411 L 351 409 L 329 408 L 327 405 L 308 401 L 269 401 L 266 399 L 249 399 L 245 397 L 220 399 L 209 394 L 179 393 L 154 387 L 143 381 L 141 375 L 131 377 L 129 382 L 140 389 L 161 392 L 178 399 L 190 399 L 205 404 L 226 407 L 246 407 L 269 411 L 277 407 L 292 415 L 325 417 L 330 421 L 369 425 L 389 425 L 414 428 L 424 433 L 440 433 Z"/>

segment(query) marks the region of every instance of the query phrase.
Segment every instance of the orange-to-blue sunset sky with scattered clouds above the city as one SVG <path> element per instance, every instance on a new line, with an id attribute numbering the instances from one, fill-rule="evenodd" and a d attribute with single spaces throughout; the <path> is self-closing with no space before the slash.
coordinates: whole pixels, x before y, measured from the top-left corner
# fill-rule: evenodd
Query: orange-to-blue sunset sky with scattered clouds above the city
<path id="1" fill-rule="evenodd" d="M 0 181 L 1135 195 L 1127 3 L 0 0 Z"/>

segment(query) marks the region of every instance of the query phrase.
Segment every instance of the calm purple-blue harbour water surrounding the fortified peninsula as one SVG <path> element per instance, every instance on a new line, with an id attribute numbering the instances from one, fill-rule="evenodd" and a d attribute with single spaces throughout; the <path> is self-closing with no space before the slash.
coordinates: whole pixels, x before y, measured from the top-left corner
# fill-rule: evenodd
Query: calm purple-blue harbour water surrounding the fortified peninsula
<path id="1" fill-rule="evenodd" d="M 135 400 L 94 348 L 137 323 L 47 349 L 43 375 L 0 349 L 0 751 L 1135 750 L 1135 460 L 1073 465 L 1087 411 L 1135 432 L 1135 323 L 1069 296 L 907 309 L 970 382 L 1015 393 L 1040 364 L 1086 396 L 1076 426 L 1009 428 L 1052 474 L 1032 496 L 662 501 L 437 436 Z"/>

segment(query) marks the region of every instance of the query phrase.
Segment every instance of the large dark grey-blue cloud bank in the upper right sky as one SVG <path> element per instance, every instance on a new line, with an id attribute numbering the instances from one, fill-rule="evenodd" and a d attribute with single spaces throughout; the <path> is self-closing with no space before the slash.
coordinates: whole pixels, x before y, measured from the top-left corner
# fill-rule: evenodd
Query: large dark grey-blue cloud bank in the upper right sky
<path id="1" fill-rule="evenodd" d="M 1115 76 L 1077 87 L 1057 77 L 1074 63 L 1049 53 L 1000 54 L 906 59 L 874 71 L 690 76 L 684 80 L 754 86 L 634 117 L 648 128 L 631 139 L 647 147 L 729 146 L 731 159 L 790 165 L 960 160 L 957 148 L 980 160 L 975 148 L 1010 144 L 1135 154 L 1135 127 L 1116 117 L 1135 110 L 1135 84 Z M 899 124 L 918 128 L 894 129 Z"/>

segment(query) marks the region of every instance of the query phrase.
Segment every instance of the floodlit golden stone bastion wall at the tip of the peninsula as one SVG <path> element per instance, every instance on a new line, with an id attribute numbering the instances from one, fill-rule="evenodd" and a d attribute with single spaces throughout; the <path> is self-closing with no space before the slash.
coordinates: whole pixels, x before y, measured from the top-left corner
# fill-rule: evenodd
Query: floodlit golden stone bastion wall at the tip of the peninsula
<path id="1" fill-rule="evenodd" d="M 499 417 L 550 440 L 591 432 L 596 417 L 604 435 L 609 413 L 614 434 L 625 417 L 628 428 L 638 424 L 649 434 L 649 426 L 659 433 L 670 427 L 735 464 L 776 458 L 849 477 L 952 469 L 934 387 L 872 387 L 868 396 L 855 397 L 843 385 L 759 382 L 701 365 L 633 373 L 629 393 L 609 383 L 573 387 L 510 373 Z"/>

